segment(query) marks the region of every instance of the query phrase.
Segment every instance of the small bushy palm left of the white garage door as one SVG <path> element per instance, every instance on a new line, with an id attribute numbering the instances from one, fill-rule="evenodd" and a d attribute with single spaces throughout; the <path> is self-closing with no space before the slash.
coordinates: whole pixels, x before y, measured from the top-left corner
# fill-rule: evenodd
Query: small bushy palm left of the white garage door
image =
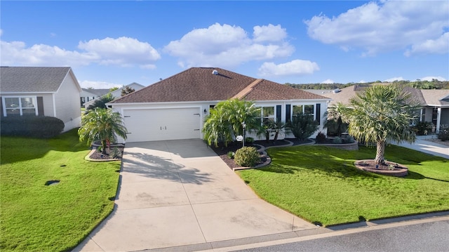
<path id="1" fill-rule="evenodd" d="M 81 125 L 78 129 L 79 140 L 88 140 L 88 145 L 100 140 L 103 154 L 106 154 L 110 142 L 116 142 L 116 135 L 126 139 L 121 115 L 111 109 L 95 108 L 81 119 Z"/>

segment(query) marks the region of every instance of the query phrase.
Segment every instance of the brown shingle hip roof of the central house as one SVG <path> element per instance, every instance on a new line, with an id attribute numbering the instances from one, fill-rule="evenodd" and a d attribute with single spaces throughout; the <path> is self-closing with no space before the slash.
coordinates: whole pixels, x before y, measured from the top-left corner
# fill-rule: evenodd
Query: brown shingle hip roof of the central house
<path id="1" fill-rule="evenodd" d="M 217 70 L 218 74 L 213 74 Z M 250 84 L 255 84 L 248 88 Z M 243 91 L 245 88 L 247 90 Z M 221 68 L 192 67 L 111 103 L 227 100 L 239 94 L 246 100 L 326 99 L 290 86 L 237 74 Z"/>

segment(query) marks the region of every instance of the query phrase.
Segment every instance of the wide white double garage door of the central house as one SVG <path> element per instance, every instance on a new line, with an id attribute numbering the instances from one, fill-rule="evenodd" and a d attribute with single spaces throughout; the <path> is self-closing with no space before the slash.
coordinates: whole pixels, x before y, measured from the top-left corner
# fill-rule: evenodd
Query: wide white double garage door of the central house
<path id="1" fill-rule="evenodd" d="M 124 110 L 126 142 L 200 138 L 199 108 Z"/>

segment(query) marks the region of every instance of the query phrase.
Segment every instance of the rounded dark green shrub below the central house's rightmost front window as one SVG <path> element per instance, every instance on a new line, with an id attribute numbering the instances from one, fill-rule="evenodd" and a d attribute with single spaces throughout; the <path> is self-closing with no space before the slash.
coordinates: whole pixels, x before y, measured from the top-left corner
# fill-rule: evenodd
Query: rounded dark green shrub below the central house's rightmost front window
<path id="1" fill-rule="evenodd" d="M 288 122 L 288 129 L 299 140 L 306 140 L 319 128 L 319 122 L 314 120 L 311 114 L 296 114 L 292 121 Z"/>

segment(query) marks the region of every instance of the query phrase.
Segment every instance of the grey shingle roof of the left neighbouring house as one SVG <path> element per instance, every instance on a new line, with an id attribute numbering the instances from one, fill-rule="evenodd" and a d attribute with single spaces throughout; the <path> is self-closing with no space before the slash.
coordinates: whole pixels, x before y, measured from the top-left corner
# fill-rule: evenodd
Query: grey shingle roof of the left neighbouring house
<path id="1" fill-rule="evenodd" d="M 0 67 L 2 93 L 55 92 L 70 67 Z"/>

